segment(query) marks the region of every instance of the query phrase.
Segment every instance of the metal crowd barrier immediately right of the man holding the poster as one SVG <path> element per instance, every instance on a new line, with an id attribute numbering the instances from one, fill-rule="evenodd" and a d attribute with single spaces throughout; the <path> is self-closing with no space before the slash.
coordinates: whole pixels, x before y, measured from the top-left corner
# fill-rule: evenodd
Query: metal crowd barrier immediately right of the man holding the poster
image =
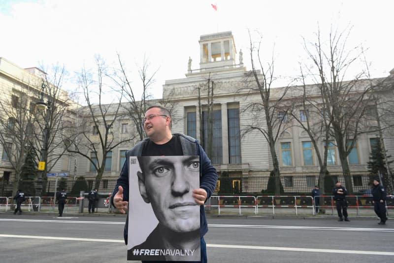
<path id="1" fill-rule="evenodd" d="M 221 207 L 232 207 L 239 209 L 239 215 L 241 215 L 241 207 L 253 207 L 256 214 L 256 197 L 254 196 L 211 196 L 211 199 L 217 198 L 216 201 L 211 200 L 210 205 L 205 207 L 218 207 L 218 214 L 220 215 Z M 212 204 L 216 203 L 216 204 Z"/>

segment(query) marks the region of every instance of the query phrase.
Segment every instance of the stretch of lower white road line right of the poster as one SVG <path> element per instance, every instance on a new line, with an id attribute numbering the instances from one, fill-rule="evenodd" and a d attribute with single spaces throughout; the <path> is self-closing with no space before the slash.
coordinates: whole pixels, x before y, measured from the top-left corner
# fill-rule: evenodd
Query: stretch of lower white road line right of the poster
<path id="1" fill-rule="evenodd" d="M 220 245 L 220 244 L 207 244 L 206 246 L 207 247 L 212 247 L 212 248 L 240 248 L 240 249 L 296 251 L 296 252 L 318 252 L 318 253 L 341 253 L 341 254 L 362 254 L 362 255 L 394 256 L 394 252 L 385 252 L 385 251 L 343 250 L 343 249 L 316 249 L 316 248 L 296 248 L 296 247 L 240 246 L 240 245 Z"/>

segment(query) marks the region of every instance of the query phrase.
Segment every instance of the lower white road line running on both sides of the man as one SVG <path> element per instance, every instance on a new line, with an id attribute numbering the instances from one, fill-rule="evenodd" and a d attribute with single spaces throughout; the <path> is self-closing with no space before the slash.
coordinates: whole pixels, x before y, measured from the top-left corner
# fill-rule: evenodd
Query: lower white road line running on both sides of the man
<path id="1" fill-rule="evenodd" d="M 124 243 L 121 239 L 98 239 L 98 238 L 75 238 L 75 237 L 58 237 L 58 236 L 36 236 L 36 235 L 9 235 L 0 234 L 0 237 L 11 238 L 31 238 L 61 241 L 87 241 L 87 242 L 105 242 L 105 243 Z M 343 249 L 316 249 L 316 248 L 296 248 L 296 247 L 267 247 L 267 246 L 242 246 L 242 245 L 221 245 L 207 244 L 210 248 L 236 248 L 236 249 L 257 249 L 257 250 L 277 250 L 277 251 L 295 251 L 295 252 L 313 252 L 313 253 L 341 253 L 341 254 L 361 254 L 361 255 L 380 255 L 394 256 L 394 252 L 385 251 L 365 251 L 365 250 L 343 250 Z"/>

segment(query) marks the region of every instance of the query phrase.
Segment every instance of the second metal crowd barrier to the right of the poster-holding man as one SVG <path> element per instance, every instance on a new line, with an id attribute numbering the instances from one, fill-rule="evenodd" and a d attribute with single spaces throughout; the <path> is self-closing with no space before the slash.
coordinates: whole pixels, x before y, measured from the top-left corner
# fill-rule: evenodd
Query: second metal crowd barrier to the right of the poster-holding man
<path id="1" fill-rule="evenodd" d="M 258 196 L 256 197 L 256 214 L 259 213 L 259 207 L 272 207 L 273 215 L 275 215 L 275 208 L 295 208 L 296 215 L 298 215 L 298 208 L 311 208 L 312 214 L 315 213 L 311 196 Z"/>

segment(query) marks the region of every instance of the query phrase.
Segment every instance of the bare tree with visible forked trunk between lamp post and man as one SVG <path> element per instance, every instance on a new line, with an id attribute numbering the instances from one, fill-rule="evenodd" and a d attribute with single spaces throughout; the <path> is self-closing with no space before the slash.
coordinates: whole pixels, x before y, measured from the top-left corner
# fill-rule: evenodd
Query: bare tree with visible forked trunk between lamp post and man
<path id="1" fill-rule="evenodd" d="M 113 128 L 116 121 L 122 116 L 120 112 L 122 94 L 116 103 L 102 103 L 104 89 L 113 80 L 113 77 L 108 77 L 105 62 L 99 57 L 96 57 L 96 66 L 97 80 L 86 69 L 82 69 L 78 75 L 78 82 L 83 89 L 87 106 L 81 116 L 81 126 L 77 129 L 80 131 L 77 135 L 81 138 L 79 140 L 70 138 L 71 144 L 67 150 L 90 161 L 97 172 L 95 187 L 99 189 L 108 153 L 118 145 L 133 140 L 134 137 L 114 136 Z M 97 103 L 92 100 L 95 93 L 98 96 Z"/>

